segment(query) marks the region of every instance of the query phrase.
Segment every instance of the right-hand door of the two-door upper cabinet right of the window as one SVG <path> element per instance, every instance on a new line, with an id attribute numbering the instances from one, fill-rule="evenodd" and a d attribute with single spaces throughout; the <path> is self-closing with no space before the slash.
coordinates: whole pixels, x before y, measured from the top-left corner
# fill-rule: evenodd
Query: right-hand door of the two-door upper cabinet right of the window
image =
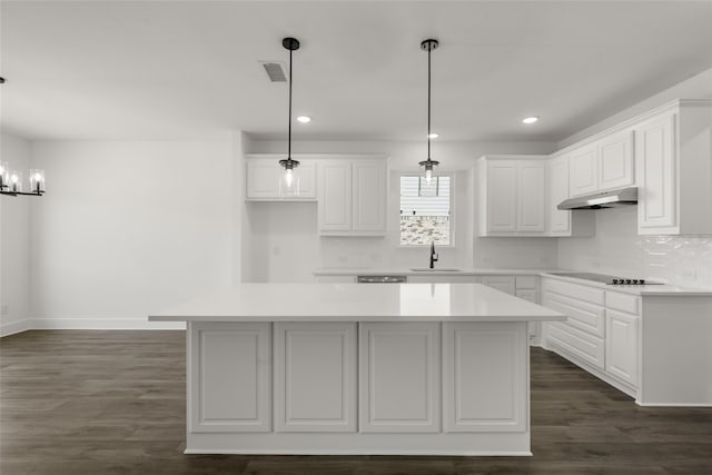
<path id="1" fill-rule="evenodd" d="M 517 230 L 545 229 L 546 164 L 522 161 L 517 166 Z"/>

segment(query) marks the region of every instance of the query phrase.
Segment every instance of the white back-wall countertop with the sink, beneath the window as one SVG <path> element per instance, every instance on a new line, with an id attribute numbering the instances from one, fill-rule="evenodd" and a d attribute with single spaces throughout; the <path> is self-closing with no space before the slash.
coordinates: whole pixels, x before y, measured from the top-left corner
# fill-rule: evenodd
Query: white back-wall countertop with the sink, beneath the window
<path id="1" fill-rule="evenodd" d="M 414 266 L 415 267 L 415 266 Z M 426 267 L 426 266 L 422 266 Z M 451 267 L 451 266 L 441 266 Z M 560 269 L 502 269 L 502 268 L 463 268 L 462 270 L 412 270 L 409 268 L 372 268 L 372 267 L 322 267 L 312 271 L 315 276 L 537 276 L 541 273 L 555 273 Z"/>

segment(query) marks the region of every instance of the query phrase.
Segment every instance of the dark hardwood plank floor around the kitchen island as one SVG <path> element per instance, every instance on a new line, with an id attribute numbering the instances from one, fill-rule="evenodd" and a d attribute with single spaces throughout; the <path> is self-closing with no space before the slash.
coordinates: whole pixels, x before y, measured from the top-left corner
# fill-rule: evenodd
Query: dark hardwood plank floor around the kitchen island
<path id="1" fill-rule="evenodd" d="M 0 339 L 0 473 L 712 474 L 712 408 L 643 408 L 532 349 L 533 457 L 184 455 L 182 331 Z"/>

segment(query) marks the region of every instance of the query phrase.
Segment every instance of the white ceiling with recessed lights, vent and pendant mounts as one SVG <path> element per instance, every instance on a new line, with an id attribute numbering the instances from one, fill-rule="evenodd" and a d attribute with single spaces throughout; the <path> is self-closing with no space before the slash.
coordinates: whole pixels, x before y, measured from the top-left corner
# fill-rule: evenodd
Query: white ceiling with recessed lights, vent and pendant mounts
<path id="1" fill-rule="evenodd" d="M 712 67 L 712 2 L 7 1 L 3 131 L 27 138 L 561 140 Z M 525 127 L 527 115 L 542 116 Z"/>

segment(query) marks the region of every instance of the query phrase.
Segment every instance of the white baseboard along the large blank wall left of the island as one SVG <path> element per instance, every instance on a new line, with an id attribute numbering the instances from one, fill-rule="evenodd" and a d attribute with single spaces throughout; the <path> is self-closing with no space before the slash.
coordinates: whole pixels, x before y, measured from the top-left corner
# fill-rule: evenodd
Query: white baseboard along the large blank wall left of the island
<path id="1" fill-rule="evenodd" d="M 147 319 L 126 318 L 33 318 L 29 328 L 34 330 L 185 330 L 184 321 L 148 321 Z"/>

